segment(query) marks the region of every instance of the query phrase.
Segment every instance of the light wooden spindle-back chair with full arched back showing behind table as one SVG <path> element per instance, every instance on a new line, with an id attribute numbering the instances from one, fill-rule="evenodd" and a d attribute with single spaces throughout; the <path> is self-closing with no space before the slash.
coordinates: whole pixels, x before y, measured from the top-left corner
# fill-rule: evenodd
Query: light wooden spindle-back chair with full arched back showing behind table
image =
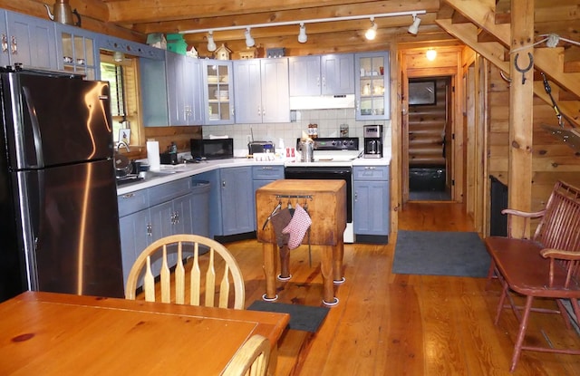
<path id="1" fill-rule="evenodd" d="M 205 252 L 205 253 L 204 253 Z M 184 259 L 188 257 L 186 265 Z M 171 286 L 169 265 L 175 264 L 174 285 Z M 191 267 L 189 267 L 191 264 Z M 158 272 L 159 270 L 159 272 Z M 206 270 L 202 273 L 202 270 Z M 216 273 L 218 270 L 218 274 Z M 155 275 L 160 275 L 160 300 L 156 299 Z M 236 259 L 225 246 L 217 241 L 198 235 L 173 235 L 160 238 L 145 248 L 131 267 L 125 286 L 125 298 L 135 300 L 137 287 L 142 281 L 145 300 L 186 304 L 185 286 L 189 280 L 189 304 L 200 305 L 200 296 L 205 295 L 206 306 L 227 308 L 230 304 L 230 275 L 233 279 L 233 307 L 244 309 L 244 278 Z M 216 291 L 218 285 L 218 291 Z M 171 290 L 174 290 L 171 296 Z"/>

